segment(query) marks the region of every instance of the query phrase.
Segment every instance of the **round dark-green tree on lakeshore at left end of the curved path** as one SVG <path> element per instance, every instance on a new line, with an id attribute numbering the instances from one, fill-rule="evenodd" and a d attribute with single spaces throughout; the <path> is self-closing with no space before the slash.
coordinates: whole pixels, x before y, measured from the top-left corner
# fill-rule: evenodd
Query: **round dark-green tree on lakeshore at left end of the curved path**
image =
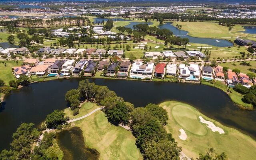
<path id="1" fill-rule="evenodd" d="M 62 124 L 66 122 L 66 118 L 64 118 L 63 110 L 54 110 L 51 114 L 48 114 L 46 117 L 46 126 L 47 128 L 62 128 Z"/>

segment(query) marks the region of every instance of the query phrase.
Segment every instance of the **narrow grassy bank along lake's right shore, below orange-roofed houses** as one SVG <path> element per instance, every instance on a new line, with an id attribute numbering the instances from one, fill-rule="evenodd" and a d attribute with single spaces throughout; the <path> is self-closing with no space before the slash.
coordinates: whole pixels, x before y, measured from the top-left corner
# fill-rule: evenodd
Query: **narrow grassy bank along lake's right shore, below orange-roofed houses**
<path id="1" fill-rule="evenodd" d="M 232 88 L 229 88 L 230 92 L 227 92 L 228 87 L 226 86 L 225 82 L 215 81 L 215 82 L 210 83 L 209 81 L 206 81 L 206 80 L 202 80 L 201 82 L 202 82 L 202 84 L 212 86 L 212 87 L 216 87 L 216 88 L 219 88 L 219 89 L 223 90 L 224 92 L 226 92 L 228 94 L 228 96 L 230 96 L 230 99 L 235 104 L 238 104 L 238 106 L 240 106 L 240 108 L 247 109 L 247 110 L 252 110 L 253 109 L 252 104 L 244 103 L 242 101 L 242 98 L 243 98 L 242 94 L 236 92 Z"/>

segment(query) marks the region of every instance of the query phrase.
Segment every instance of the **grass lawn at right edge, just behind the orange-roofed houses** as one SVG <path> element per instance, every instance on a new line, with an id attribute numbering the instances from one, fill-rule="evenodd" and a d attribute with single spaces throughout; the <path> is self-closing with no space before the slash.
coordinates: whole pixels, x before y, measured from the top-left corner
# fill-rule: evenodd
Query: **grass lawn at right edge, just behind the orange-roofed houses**
<path id="1" fill-rule="evenodd" d="M 221 63 L 220 66 L 222 67 L 228 67 L 229 69 L 234 69 L 234 68 L 238 68 L 242 73 L 251 73 L 250 70 L 248 70 L 249 68 L 256 68 L 256 61 L 246 61 L 246 62 L 250 62 L 250 64 L 252 66 L 242 66 L 240 65 L 240 63 L 242 63 L 242 61 L 240 62 L 226 62 L 226 63 Z"/>

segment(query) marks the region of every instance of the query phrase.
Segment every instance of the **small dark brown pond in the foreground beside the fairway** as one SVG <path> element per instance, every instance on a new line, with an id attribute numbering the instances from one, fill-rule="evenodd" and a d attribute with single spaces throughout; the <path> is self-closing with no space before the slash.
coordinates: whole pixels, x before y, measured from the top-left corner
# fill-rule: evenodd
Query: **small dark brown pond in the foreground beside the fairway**
<path id="1" fill-rule="evenodd" d="M 64 160 L 97 160 L 99 153 L 85 146 L 83 132 L 79 127 L 62 130 L 56 134 Z"/>

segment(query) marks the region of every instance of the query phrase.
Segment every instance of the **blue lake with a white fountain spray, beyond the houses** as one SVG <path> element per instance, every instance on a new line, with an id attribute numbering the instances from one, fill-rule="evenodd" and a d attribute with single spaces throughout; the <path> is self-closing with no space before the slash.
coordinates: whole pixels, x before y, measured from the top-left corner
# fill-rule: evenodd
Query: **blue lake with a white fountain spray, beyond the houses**
<path id="1" fill-rule="evenodd" d="M 190 43 L 208 44 L 208 45 L 217 46 L 217 47 L 233 46 L 233 43 L 228 40 L 213 39 L 213 38 L 198 38 L 198 37 L 188 36 L 187 31 L 176 28 L 175 26 L 172 25 L 172 22 L 166 22 L 165 24 L 160 24 L 158 27 L 161 29 L 164 29 L 164 28 L 169 29 L 170 31 L 173 32 L 175 36 L 178 36 L 181 38 L 188 38 Z"/>

